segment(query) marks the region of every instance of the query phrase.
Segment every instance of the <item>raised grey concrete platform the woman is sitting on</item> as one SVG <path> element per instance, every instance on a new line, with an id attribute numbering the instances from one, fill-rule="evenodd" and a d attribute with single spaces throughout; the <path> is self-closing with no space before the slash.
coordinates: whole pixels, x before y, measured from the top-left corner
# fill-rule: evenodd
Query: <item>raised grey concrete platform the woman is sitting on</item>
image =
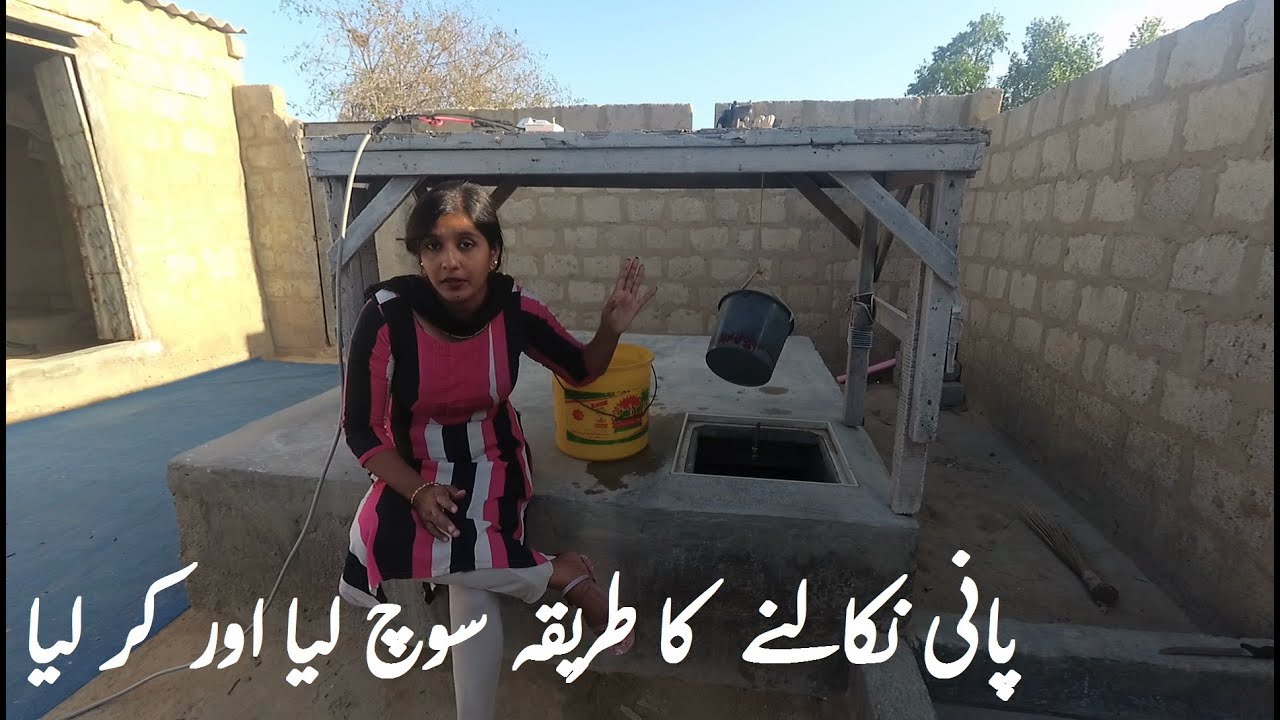
<path id="1" fill-rule="evenodd" d="M 596 660 L 593 667 L 812 694 L 844 692 L 844 653 L 804 665 L 741 660 L 756 635 L 796 621 L 800 580 L 808 580 L 803 633 L 771 647 L 841 643 L 849 600 L 865 602 L 914 570 L 915 520 L 888 510 L 888 478 L 865 433 L 838 425 L 840 388 L 813 343 L 791 338 L 773 382 L 748 389 L 705 368 L 705 337 L 634 336 L 627 342 L 654 350 L 660 383 L 650 447 L 637 456 L 584 462 L 557 451 L 552 378 L 527 360 L 513 397 L 524 413 L 536 474 L 538 497 L 527 514 L 531 543 L 548 552 L 582 550 L 602 573 L 618 570 L 622 597 L 639 614 L 636 650 L 625 659 Z M 183 559 L 201 564 L 188 580 L 195 607 L 247 616 L 266 594 L 301 528 L 337 413 L 334 391 L 174 459 L 169 478 Z M 860 484 L 672 475 L 686 413 L 831 420 Z M 348 525 L 367 482 L 340 446 L 306 542 L 282 585 L 284 601 L 298 597 L 305 606 L 329 606 Z M 666 664 L 659 655 L 664 601 L 685 607 L 718 578 L 726 583 L 695 618 L 689 656 L 680 665 Z M 443 611 L 425 611 L 413 585 L 398 589 L 389 583 L 388 592 L 419 625 Z M 909 593 L 910 584 L 900 594 Z M 778 605 L 772 620 L 758 611 L 765 600 Z M 511 655 L 541 634 L 531 610 L 515 602 L 507 607 Z M 891 611 L 877 620 L 887 623 L 886 615 Z"/>

